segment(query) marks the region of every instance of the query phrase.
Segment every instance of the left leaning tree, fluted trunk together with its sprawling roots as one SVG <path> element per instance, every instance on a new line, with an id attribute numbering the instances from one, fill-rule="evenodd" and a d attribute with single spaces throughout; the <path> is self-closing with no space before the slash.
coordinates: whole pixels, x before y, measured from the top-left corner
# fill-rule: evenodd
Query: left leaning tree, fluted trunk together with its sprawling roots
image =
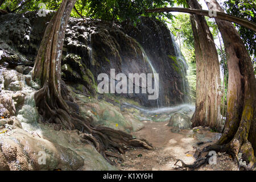
<path id="1" fill-rule="evenodd" d="M 90 122 L 76 113 L 67 104 L 67 88 L 61 81 L 61 55 L 68 19 L 76 0 L 63 0 L 59 10 L 49 22 L 40 44 L 38 55 L 32 71 L 33 80 L 39 82 L 42 88 L 35 93 L 35 102 L 44 122 L 56 123 L 69 130 L 80 130 L 81 140 L 94 144 L 110 163 L 108 156 L 118 157 L 114 152 L 123 153 L 129 146 L 151 149 L 146 140 L 138 140 L 123 131 L 108 127 L 93 127 Z M 70 102 L 69 101 L 69 102 Z M 111 152 L 113 151 L 113 152 Z"/>

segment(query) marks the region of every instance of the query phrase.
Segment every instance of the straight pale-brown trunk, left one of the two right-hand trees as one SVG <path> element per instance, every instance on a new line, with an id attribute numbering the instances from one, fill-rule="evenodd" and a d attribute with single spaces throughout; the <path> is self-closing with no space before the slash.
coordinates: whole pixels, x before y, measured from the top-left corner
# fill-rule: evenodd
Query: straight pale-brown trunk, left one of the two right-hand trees
<path id="1" fill-rule="evenodd" d="M 201 9 L 197 0 L 188 0 L 193 9 Z M 213 36 L 204 16 L 191 15 L 196 53 L 196 110 L 192 126 L 221 129 L 220 66 Z"/>

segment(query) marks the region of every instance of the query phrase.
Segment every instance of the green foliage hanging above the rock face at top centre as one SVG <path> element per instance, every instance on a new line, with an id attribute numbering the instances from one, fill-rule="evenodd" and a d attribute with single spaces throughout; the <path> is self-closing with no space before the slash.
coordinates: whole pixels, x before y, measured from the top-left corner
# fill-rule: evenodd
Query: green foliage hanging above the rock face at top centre
<path id="1" fill-rule="evenodd" d="M 171 18 L 171 14 L 151 13 L 145 14 L 146 9 L 155 9 L 164 6 L 173 6 L 172 0 L 88 0 L 88 12 L 86 16 L 105 20 L 137 20 L 138 16 L 153 16 L 158 19 Z"/>

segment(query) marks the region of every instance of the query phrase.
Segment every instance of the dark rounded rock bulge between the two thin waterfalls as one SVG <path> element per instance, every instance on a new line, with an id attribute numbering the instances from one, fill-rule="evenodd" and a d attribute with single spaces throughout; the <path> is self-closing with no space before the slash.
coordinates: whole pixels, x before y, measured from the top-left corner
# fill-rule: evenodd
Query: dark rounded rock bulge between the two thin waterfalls
<path id="1" fill-rule="evenodd" d="M 166 24 L 141 17 L 137 27 L 123 22 L 123 30 L 144 48 L 156 72 L 159 73 L 159 100 L 163 106 L 188 101 L 187 63 L 174 43 Z M 176 47 L 175 47 L 176 46 Z"/>

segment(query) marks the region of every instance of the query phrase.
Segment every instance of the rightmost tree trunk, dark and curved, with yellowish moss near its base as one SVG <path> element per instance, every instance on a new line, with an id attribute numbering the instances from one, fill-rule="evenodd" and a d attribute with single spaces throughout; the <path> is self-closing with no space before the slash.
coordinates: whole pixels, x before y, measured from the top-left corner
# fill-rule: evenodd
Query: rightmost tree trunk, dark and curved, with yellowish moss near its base
<path id="1" fill-rule="evenodd" d="M 216 5 L 217 11 L 224 12 L 216 0 L 205 0 L 208 7 Z M 241 151 L 248 168 L 255 163 L 256 119 L 255 119 L 255 76 L 253 64 L 232 23 L 216 19 L 224 41 L 228 61 L 228 111 L 224 133 L 216 143 L 226 145 L 236 157 Z"/>

